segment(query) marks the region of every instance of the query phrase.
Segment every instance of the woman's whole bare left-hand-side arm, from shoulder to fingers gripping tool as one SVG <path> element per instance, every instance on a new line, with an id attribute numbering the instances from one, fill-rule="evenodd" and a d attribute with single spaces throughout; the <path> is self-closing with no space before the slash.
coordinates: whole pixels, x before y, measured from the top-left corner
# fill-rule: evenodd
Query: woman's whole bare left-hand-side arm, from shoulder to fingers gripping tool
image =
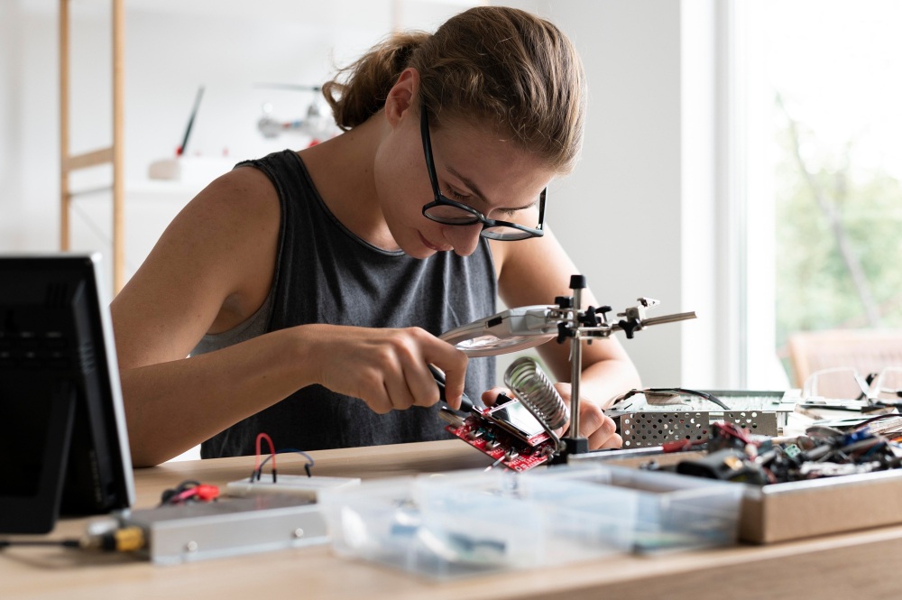
<path id="1" fill-rule="evenodd" d="M 460 402 L 466 356 L 418 328 L 304 325 L 186 358 L 244 322 L 272 287 L 280 226 L 272 184 L 253 168 L 216 180 L 182 210 L 111 309 L 136 466 L 177 456 L 301 387 L 320 383 L 376 412 L 428 406 L 446 372 Z M 304 293 L 299 290 L 297 293 Z"/>

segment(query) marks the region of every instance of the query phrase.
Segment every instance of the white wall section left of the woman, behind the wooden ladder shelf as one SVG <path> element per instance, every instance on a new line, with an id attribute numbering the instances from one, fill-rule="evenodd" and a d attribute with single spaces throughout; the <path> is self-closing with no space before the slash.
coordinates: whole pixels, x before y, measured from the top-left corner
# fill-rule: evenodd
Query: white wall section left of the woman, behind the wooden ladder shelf
<path id="1" fill-rule="evenodd" d="M 111 3 L 71 0 L 71 148 L 96 150 L 112 139 Z M 198 87 L 205 86 L 189 155 L 228 157 L 228 165 L 308 139 L 266 140 L 256 129 L 262 105 L 292 120 L 312 94 L 261 83 L 321 84 L 334 64 L 353 60 L 394 26 L 434 27 L 474 2 L 393 0 L 128 0 L 125 18 L 126 276 L 207 179 L 149 181 L 151 162 L 174 156 Z M 0 3 L 0 252 L 54 250 L 59 240 L 58 2 Z M 72 189 L 109 184 L 108 166 L 78 171 Z M 109 253 L 108 192 L 78 196 L 72 247 Z M 108 261 L 107 261 L 108 262 Z"/>

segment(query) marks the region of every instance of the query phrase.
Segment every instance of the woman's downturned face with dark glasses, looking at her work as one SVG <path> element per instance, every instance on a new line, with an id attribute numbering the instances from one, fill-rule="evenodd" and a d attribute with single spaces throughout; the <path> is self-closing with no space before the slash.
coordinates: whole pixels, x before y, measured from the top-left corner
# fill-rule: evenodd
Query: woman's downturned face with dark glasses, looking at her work
<path id="1" fill-rule="evenodd" d="M 438 188 L 485 217 L 534 227 L 538 197 L 555 173 L 491 129 L 460 119 L 431 127 Z M 419 110 L 400 120 L 376 159 L 376 188 L 391 235 L 406 254 L 473 254 L 481 224 L 449 226 L 423 216 L 435 199 L 419 127 Z"/>

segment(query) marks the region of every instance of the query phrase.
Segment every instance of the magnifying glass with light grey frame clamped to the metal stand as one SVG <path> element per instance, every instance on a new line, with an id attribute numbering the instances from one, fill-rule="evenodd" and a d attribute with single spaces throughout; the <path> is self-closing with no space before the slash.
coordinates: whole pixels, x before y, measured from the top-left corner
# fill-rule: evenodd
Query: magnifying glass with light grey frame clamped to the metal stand
<path id="1" fill-rule="evenodd" d="M 557 306 L 522 306 L 446 331 L 439 338 L 467 356 L 494 356 L 525 350 L 557 337 L 557 321 L 549 320 Z"/>

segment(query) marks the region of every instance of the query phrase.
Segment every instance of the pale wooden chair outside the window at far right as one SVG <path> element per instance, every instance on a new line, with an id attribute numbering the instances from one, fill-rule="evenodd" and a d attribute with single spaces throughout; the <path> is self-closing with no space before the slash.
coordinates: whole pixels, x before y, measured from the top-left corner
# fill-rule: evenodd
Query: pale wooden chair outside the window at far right
<path id="1" fill-rule="evenodd" d="M 809 375 L 834 367 L 851 367 L 861 375 L 902 367 L 902 329 L 800 331 L 789 336 L 788 347 L 797 387 Z M 857 398 L 861 393 L 851 377 L 823 378 L 818 387 L 820 395 L 832 398 Z"/>

